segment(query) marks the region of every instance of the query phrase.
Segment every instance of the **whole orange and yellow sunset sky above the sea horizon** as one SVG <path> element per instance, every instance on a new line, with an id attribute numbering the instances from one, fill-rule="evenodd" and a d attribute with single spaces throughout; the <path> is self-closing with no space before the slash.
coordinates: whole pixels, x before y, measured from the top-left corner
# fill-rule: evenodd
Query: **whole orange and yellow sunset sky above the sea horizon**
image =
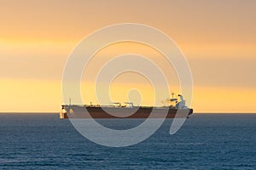
<path id="1" fill-rule="evenodd" d="M 186 56 L 193 77 L 190 107 L 195 112 L 255 113 L 255 8 L 253 0 L 0 0 L 0 112 L 60 111 L 62 72 L 76 45 L 104 26 L 138 23 L 165 32 Z M 168 82 L 179 93 L 172 65 L 142 44 L 104 48 L 87 71 L 97 71 L 102 61 L 127 53 L 148 56 L 170 71 Z M 96 103 L 93 84 L 82 82 L 84 103 Z M 132 89 L 137 88 L 145 96 L 142 104 L 152 103 L 152 89 L 143 77 L 124 74 L 112 87 L 115 100 L 125 99 L 130 90 L 136 100 Z"/>

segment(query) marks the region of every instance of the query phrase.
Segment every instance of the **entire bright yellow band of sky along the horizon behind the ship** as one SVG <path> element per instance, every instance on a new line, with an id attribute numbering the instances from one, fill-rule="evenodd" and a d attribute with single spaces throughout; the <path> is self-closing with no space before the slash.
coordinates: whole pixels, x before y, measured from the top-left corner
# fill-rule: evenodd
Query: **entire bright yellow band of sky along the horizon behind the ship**
<path id="1" fill-rule="evenodd" d="M 61 109 L 61 82 L 1 80 L 0 83 L 0 93 L 4 96 L 0 98 L 1 112 L 58 112 Z M 82 86 L 86 86 L 82 90 L 84 104 L 98 104 L 95 91 L 91 90 L 94 83 L 83 82 Z M 113 101 L 127 101 L 127 94 L 133 88 L 142 95 L 143 105 L 154 104 L 152 88 L 142 84 L 115 84 L 110 91 Z M 196 113 L 255 113 L 255 96 L 255 89 L 195 88 L 191 107 Z M 157 103 L 161 104 L 160 100 Z"/>

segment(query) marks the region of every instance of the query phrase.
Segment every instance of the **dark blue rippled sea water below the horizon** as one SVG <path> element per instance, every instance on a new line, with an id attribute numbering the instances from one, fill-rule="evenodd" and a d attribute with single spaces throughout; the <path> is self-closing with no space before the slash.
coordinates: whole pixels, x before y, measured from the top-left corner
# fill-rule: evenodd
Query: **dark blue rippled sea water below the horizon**
<path id="1" fill-rule="evenodd" d="M 256 169 L 256 115 L 195 114 L 174 135 L 171 122 L 140 144 L 109 148 L 58 114 L 0 114 L 0 169 Z"/>

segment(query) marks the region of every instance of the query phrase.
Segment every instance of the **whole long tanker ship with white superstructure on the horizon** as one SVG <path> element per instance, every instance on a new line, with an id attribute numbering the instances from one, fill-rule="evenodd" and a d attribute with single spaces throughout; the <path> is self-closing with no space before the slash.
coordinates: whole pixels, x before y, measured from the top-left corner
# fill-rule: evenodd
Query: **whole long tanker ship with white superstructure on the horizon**
<path id="1" fill-rule="evenodd" d="M 60 118 L 174 118 L 189 117 L 193 109 L 185 105 L 183 96 L 168 99 L 170 105 L 160 107 L 134 106 L 132 102 L 113 102 L 111 105 L 61 105 Z M 174 105 L 173 105 L 174 104 Z"/>

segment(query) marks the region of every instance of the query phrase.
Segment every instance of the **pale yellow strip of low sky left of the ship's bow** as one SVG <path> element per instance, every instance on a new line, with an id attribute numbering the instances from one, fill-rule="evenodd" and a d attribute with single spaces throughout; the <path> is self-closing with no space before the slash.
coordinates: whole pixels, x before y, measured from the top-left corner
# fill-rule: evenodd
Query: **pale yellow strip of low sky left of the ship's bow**
<path id="1" fill-rule="evenodd" d="M 61 108 L 61 82 L 0 80 L 1 112 L 56 112 Z"/>

